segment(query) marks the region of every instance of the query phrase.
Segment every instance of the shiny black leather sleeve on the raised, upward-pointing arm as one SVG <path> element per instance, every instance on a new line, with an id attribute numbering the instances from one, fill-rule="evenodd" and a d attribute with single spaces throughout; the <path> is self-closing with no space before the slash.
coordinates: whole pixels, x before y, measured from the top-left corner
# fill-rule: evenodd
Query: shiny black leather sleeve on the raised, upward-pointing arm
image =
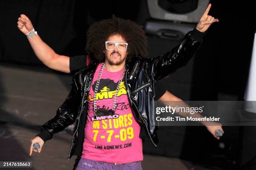
<path id="1" fill-rule="evenodd" d="M 178 68 L 187 65 L 202 43 L 204 33 L 194 29 L 189 31 L 182 42 L 170 52 L 150 59 L 152 75 L 155 80 L 168 77 Z"/>

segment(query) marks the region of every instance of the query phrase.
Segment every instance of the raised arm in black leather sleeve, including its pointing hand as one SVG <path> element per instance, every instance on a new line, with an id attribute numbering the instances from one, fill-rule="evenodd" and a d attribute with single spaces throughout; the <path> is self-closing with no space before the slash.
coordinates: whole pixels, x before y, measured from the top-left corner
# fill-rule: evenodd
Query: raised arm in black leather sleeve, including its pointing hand
<path id="1" fill-rule="evenodd" d="M 193 31 L 189 31 L 182 42 L 174 47 L 170 52 L 151 58 L 151 66 L 154 67 L 153 76 L 156 80 L 163 79 L 171 75 L 178 68 L 186 65 L 193 57 L 197 49 L 202 43 L 204 32 L 212 23 L 218 22 L 218 19 L 208 15 L 211 4 L 208 5 L 205 13 L 197 23 L 197 27 Z"/>

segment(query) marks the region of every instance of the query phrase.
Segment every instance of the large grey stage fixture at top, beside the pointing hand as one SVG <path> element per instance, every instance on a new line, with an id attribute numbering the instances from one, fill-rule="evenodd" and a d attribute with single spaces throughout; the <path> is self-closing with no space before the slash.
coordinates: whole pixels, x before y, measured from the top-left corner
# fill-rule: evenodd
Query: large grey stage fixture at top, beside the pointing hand
<path id="1" fill-rule="evenodd" d="M 210 0 L 147 0 L 146 34 L 181 41 L 195 28 Z"/>

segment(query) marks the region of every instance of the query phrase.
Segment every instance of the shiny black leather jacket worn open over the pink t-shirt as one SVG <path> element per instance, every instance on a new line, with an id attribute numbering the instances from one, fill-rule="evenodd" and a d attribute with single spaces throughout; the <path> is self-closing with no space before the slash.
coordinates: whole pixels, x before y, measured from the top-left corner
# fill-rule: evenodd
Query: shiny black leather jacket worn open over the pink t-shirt
<path id="1" fill-rule="evenodd" d="M 155 146 L 159 143 L 158 127 L 154 124 L 151 106 L 155 100 L 156 81 L 168 77 L 187 64 L 202 43 L 202 35 L 198 38 L 196 34 L 200 33 L 195 33 L 195 29 L 188 32 L 177 47 L 164 55 L 156 58 L 133 57 L 125 63 L 125 87 L 133 115 L 142 127 L 140 137 L 149 137 Z M 41 133 L 37 135 L 44 141 L 49 140 L 54 133 L 76 121 L 68 159 L 72 155 L 82 155 L 84 127 L 87 121 L 87 97 L 97 65 L 98 63 L 94 62 L 90 67 L 75 73 L 71 83 L 72 89 L 65 102 L 58 108 L 56 116 L 46 122 L 41 127 Z"/>

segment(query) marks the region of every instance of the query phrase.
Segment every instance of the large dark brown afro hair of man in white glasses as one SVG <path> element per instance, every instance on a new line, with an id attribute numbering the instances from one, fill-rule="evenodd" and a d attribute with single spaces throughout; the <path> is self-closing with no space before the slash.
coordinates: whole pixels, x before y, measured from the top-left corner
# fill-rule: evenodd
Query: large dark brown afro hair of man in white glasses
<path id="1" fill-rule="evenodd" d="M 126 60 L 130 60 L 133 56 L 146 57 L 147 37 L 144 30 L 135 22 L 114 15 L 110 19 L 101 20 L 90 26 L 87 30 L 87 50 L 94 53 L 97 60 L 104 61 L 105 41 L 116 34 L 121 35 L 128 42 Z"/>

